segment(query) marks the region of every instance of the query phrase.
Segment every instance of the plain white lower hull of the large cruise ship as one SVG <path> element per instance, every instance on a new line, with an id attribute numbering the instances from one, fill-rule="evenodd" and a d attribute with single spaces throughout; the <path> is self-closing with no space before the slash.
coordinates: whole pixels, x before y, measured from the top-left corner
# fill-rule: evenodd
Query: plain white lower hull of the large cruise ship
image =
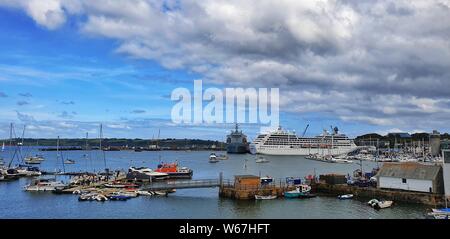
<path id="1" fill-rule="evenodd" d="M 252 147 L 252 146 L 251 146 Z M 328 148 L 291 148 L 287 147 L 252 147 L 250 150 L 252 153 L 265 154 L 265 155 L 299 155 L 307 156 L 310 154 L 319 155 L 339 155 L 353 152 L 358 147 L 340 147 L 334 149 Z"/>

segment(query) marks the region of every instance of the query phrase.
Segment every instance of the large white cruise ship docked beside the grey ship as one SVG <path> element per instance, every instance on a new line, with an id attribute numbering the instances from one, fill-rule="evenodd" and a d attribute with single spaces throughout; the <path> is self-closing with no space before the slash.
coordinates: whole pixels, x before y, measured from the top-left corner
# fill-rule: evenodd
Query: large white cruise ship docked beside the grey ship
<path id="1" fill-rule="evenodd" d="M 358 148 L 353 140 L 339 134 L 335 127 L 332 133 L 324 130 L 322 135 L 307 138 L 298 137 L 295 133 L 278 130 L 260 134 L 250 144 L 251 153 L 268 155 L 339 155 L 347 154 Z"/>

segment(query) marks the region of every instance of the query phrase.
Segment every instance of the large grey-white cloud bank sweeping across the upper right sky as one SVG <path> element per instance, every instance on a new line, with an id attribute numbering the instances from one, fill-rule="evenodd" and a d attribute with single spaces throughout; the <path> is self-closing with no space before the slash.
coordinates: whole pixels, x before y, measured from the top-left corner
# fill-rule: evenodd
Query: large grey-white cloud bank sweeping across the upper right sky
<path id="1" fill-rule="evenodd" d="M 23 8 L 49 29 L 82 15 L 80 32 L 116 40 L 115 52 L 201 73 L 207 83 L 279 87 L 285 111 L 411 129 L 450 117 L 448 1 L 0 5 Z"/>

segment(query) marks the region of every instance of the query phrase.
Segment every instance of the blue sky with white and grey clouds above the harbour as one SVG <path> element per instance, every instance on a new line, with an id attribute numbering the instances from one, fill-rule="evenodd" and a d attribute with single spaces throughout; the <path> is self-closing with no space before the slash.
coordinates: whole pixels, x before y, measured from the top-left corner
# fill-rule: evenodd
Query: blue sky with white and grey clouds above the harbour
<path id="1" fill-rule="evenodd" d="M 0 0 L 0 138 L 224 138 L 173 125 L 193 80 L 280 88 L 309 135 L 450 131 L 450 1 Z M 251 137 L 257 126 L 245 125 Z"/>

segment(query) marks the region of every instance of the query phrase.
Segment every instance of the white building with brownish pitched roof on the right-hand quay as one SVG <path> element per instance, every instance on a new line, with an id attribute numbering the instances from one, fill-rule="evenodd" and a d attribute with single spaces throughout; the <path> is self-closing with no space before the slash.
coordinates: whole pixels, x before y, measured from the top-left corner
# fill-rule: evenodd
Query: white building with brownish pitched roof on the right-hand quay
<path id="1" fill-rule="evenodd" d="M 377 174 L 378 188 L 444 193 L 442 167 L 420 163 L 384 163 Z"/>

